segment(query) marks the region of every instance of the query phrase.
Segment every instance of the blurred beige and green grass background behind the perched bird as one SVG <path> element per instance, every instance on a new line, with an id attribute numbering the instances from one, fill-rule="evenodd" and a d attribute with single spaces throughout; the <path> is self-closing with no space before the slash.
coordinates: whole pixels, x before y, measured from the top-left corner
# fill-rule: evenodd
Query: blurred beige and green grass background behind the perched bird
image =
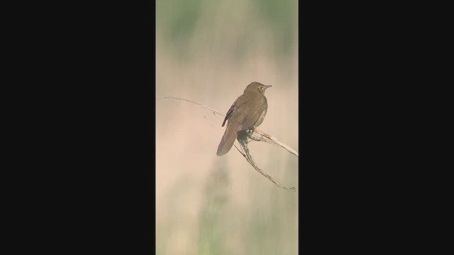
<path id="1" fill-rule="evenodd" d="M 251 81 L 273 85 L 260 129 L 298 151 L 298 1 L 156 1 L 156 253 L 297 254 L 298 159 L 251 142 L 258 174 L 223 117 Z M 304 124 L 304 123 L 303 123 Z"/>

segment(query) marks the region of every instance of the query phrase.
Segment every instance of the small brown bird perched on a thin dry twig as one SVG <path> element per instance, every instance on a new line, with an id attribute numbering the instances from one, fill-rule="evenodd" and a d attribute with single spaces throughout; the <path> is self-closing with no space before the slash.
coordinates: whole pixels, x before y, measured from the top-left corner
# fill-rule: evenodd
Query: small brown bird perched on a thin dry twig
<path id="1" fill-rule="evenodd" d="M 230 151 L 238 132 L 258 127 L 267 114 L 267 98 L 265 90 L 271 85 L 263 85 L 252 82 L 244 90 L 243 95 L 239 96 L 233 105 L 228 109 L 222 127 L 228 120 L 226 131 L 218 145 L 218 156 L 222 156 Z"/>

